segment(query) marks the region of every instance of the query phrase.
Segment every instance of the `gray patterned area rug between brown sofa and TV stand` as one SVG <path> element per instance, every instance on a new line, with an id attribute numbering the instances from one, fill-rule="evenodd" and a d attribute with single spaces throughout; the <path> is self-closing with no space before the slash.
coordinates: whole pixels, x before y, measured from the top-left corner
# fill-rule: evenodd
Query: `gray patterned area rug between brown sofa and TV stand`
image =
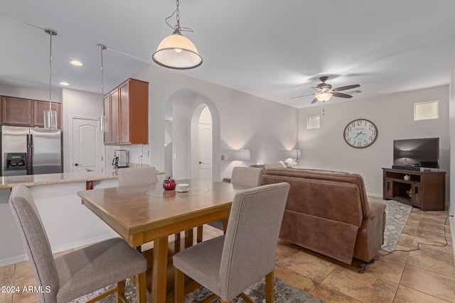
<path id="1" fill-rule="evenodd" d="M 384 244 L 382 244 L 381 249 L 385 251 L 395 250 L 398 239 L 400 239 L 410 216 L 412 206 L 393 200 L 382 200 L 378 197 L 368 197 L 368 201 L 380 201 L 387 205 L 385 208 Z"/>

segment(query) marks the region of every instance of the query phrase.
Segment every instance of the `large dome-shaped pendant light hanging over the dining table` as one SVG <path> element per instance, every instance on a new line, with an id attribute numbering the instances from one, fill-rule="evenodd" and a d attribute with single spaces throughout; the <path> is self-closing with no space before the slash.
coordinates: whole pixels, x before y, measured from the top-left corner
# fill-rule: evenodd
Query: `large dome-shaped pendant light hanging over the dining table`
<path id="1" fill-rule="evenodd" d="M 191 31 L 191 28 L 182 28 L 180 26 L 180 11 L 177 9 L 173 11 L 171 18 L 174 14 L 176 15 L 177 24 L 171 26 L 166 18 L 168 26 L 173 28 L 172 35 L 168 35 L 158 45 L 158 49 L 152 56 L 153 60 L 161 66 L 172 68 L 174 70 L 189 70 L 191 68 L 198 67 L 202 64 L 202 57 L 198 54 L 196 46 L 188 39 L 183 37 L 182 31 Z"/>

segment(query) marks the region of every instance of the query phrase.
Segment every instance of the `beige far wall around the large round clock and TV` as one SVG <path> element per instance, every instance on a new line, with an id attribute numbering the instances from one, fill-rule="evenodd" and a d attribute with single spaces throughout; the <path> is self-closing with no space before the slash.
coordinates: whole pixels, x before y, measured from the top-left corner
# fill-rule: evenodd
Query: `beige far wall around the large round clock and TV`
<path id="1" fill-rule="evenodd" d="M 434 100 L 439 100 L 439 119 L 414 121 L 414 103 Z M 392 166 L 393 140 L 439 137 L 440 170 L 449 172 L 448 85 L 349 102 L 334 98 L 324 110 L 324 116 L 323 106 L 299 110 L 299 165 L 359 173 L 368 193 L 382 195 L 381 168 Z M 307 130 L 306 117 L 314 115 L 321 115 L 321 128 Z M 351 148 L 343 139 L 345 126 L 358 118 L 378 128 L 378 138 L 368 148 Z"/>

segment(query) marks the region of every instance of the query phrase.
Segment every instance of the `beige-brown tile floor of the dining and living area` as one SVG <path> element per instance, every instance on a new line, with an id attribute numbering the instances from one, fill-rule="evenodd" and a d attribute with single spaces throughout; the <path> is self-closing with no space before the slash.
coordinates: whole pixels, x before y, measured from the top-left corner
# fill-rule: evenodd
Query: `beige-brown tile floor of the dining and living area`
<path id="1" fill-rule="evenodd" d="M 417 243 L 444 244 L 447 211 L 413 208 L 397 249 L 411 250 Z M 326 302 L 455 302 L 454 250 L 447 221 L 448 246 L 420 246 L 420 250 L 380 251 L 380 258 L 358 273 L 360 261 L 346 265 L 299 246 L 280 242 L 275 275 Z M 220 232 L 204 227 L 204 237 Z M 28 262 L 0 268 L 0 287 L 34 285 Z M 0 292 L 0 303 L 38 302 L 36 294 Z"/>

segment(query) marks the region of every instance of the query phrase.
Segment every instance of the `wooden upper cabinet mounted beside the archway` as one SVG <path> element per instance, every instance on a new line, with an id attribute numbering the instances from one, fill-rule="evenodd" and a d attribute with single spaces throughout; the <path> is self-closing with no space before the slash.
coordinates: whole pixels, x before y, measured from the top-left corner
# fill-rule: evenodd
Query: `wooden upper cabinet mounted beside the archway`
<path id="1" fill-rule="evenodd" d="M 128 79 L 105 96 L 106 145 L 149 143 L 149 83 Z"/>

